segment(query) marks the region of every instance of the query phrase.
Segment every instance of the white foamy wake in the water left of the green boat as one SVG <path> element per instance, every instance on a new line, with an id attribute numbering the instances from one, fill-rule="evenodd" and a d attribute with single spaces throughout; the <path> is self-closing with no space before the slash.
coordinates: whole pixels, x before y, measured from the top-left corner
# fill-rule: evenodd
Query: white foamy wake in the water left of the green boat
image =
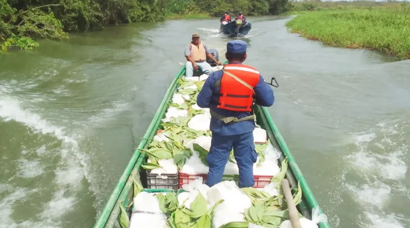
<path id="1" fill-rule="evenodd" d="M 15 161 L 18 164 L 16 167 L 19 169 L 3 185 L 2 192 L 8 192 L 9 194 L 0 201 L 0 220 L 8 227 L 57 227 L 61 221 L 61 215 L 75 208 L 74 204 L 79 199 L 76 192 L 79 189 L 81 180 L 87 178 L 88 173 L 84 155 L 79 153 L 75 137 L 68 136 L 64 128 L 54 126 L 38 114 L 23 109 L 22 103 L 15 98 L 3 96 L 3 94 L 0 97 L 0 120 L 4 123 L 15 121 L 26 126 L 28 130 L 25 133 L 26 137 L 32 137 L 34 134 L 38 138 L 38 142 L 44 143 L 34 151 L 27 150 L 25 145 L 22 144 L 21 152 L 18 155 L 20 158 Z M 59 142 L 55 140 L 50 142 L 46 135 L 56 138 Z M 56 148 L 55 143 L 60 143 L 61 146 Z M 14 162 L 15 157 L 9 160 L 6 154 L 2 160 Z M 53 167 L 53 163 L 50 162 L 55 159 L 60 160 L 59 165 L 50 171 L 50 167 Z M 3 167 L 4 165 L 2 164 Z M 38 183 L 34 186 L 34 190 L 18 188 L 17 191 L 12 187 L 15 178 L 32 181 L 39 176 L 49 176 L 50 172 L 54 173 L 55 178 L 49 185 L 45 186 Z M 22 201 L 30 200 L 30 198 L 44 198 L 47 194 L 51 194 L 52 198 L 45 203 L 43 212 L 36 216 L 42 220 L 41 224 L 31 220 L 20 224 L 13 222 L 11 215 L 16 210 L 20 211 L 16 205 Z M 16 203 L 17 201 L 19 203 Z"/>

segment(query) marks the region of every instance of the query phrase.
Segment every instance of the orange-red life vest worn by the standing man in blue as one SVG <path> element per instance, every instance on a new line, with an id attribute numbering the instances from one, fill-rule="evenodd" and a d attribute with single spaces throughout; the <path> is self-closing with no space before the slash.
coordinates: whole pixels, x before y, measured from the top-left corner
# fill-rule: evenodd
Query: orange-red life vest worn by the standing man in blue
<path id="1" fill-rule="evenodd" d="M 259 82 L 259 71 L 248 65 L 228 64 L 223 67 L 223 70 L 240 78 L 252 88 Z M 251 112 L 253 95 L 253 89 L 243 85 L 232 76 L 223 73 L 217 108 L 237 112 Z"/>

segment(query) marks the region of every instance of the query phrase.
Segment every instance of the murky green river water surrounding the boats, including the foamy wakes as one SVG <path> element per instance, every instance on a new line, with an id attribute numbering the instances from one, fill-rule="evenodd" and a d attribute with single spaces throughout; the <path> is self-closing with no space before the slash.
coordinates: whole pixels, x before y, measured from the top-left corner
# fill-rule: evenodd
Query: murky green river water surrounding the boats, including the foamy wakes
<path id="1" fill-rule="evenodd" d="M 250 17 L 245 63 L 280 87 L 269 108 L 332 227 L 410 227 L 410 61 Z M 191 34 L 224 60 L 219 23 L 170 20 L 41 40 L 0 56 L 0 227 L 92 227 Z"/>

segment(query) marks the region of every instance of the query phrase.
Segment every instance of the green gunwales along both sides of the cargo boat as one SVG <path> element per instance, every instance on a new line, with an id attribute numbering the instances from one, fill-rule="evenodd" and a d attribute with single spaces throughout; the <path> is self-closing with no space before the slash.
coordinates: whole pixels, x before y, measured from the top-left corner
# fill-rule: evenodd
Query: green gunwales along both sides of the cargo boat
<path id="1" fill-rule="evenodd" d="M 177 75 L 171 82 L 171 85 L 166 91 L 146 133 L 144 134 L 144 136 L 142 136 L 142 140 L 139 142 L 138 147 L 135 149 L 134 154 L 130 158 L 130 161 L 128 162 L 124 173 L 122 173 L 122 175 L 120 176 L 110 198 L 105 204 L 103 210 L 100 212 L 97 221 L 94 224 L 94 228 L 118 226 L 117 219 L 120 215 L 119 206 L 122 203 L 122 206 L 126 207 L 130 204 L 130 199 L 132 201 L 132 176 L 134 176 L 134 178 L 139 178 L 140 165 L 145 162 L 145 154 L 140 153 L 140 150 L 144 149 L 147 146 L 150 138 L 153 138 L 153 136 L 159 129 L 161 119 L 163 118 L 169 107 L 168 102 L 172 99 L 172 96 L 176 92 L 177 86 L 179 85 L 178 79 L 183 75 L 185 75 L 185 66 L 183 66 L 178 71 Z M 308 182 L 306 182 L 288 146 L 286 146 L 286 143 L 282 138 L 282 135 L 280 134 L 278 128 L 276 127 L 268 109 L 266 107 L 257 106 L 255 113 L 257 115 L 258 125 L 261 125 L 261 122 L 263 123 L 263 125 L 261 126 L 262 128 L 264 127 L 264 129 L 267 131 L 269 139 L 274 144 L 275 148 L 279 149 L 282 152 L 279 160 L 282 161 L 285 156 L 288 157 L 288 165 L 290 169 L 288 169 L 288 171 L 286 172 L 286 179 L 289 180 L 290 184 L 293 187 L 297 187 L 298 181 L 300 182 L 302 189 L 302 201 L 297 205 L 299 212 L 306 218 L 312 219 L 312 209 L 318 206 L 319 213 L 322 213 L 322 210 L 320 209 L 311 189 L 309 188 Z M 318 225 L 320 228 L 331 227 L 327 222 L 321 222 Z"/>

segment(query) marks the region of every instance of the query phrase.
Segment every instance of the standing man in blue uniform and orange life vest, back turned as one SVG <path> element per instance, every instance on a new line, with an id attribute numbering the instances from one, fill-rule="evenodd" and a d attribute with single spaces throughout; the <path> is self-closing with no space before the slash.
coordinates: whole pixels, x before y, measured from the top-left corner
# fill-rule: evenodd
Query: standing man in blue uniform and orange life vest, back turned
<path id="1" fill-rule="evenodd" d="M 210 108 L 211 112 L 208 186 L 222 181 L 232 148 L 239 168 L 239 188 L 255 184 L 253 164 L 257 154 L 253 137 L 253 105 L 256 102 L 260 106 L 272 106 L 275 97 L 259 71 L 242 64 L 247 58 L 246 52 L 247 43 L 230 41 L 225 54 L 229 63 L 209 75 L 197 96 L 198 106 Z"/>

